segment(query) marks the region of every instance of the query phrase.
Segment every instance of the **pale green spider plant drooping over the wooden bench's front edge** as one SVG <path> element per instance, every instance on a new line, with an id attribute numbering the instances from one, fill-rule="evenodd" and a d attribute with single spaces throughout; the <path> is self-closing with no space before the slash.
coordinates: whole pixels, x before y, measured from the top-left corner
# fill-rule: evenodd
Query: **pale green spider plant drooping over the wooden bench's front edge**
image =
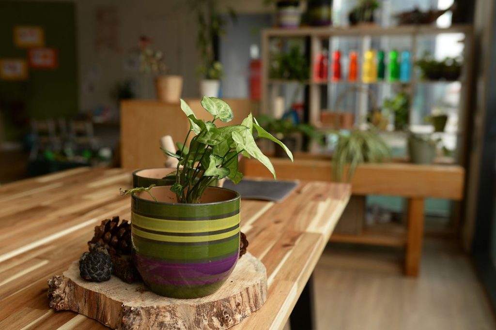
<path id="1" fill-rule="evenodd" d="M 374 130 L 352 130 L 337 132 L 338 142 L 332 155 L 332 174 L 334 180 L 342 181 L 346 165 L 347 181 L 350 181 L 359 164 L 381 163 L 391 158 L 391 150 Z"/>

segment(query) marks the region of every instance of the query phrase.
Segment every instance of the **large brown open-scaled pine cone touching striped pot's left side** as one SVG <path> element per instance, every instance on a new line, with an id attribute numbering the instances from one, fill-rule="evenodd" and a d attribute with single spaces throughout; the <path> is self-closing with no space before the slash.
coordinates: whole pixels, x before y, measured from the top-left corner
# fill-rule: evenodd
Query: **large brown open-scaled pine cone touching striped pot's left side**
<path id="1" fill-rule="evenodd" d="M 95 227 L 95 235 L 88 242 L 90 250 L 95 244 L 106 248 L 111 254 L 130 255 L 131 225 L 127 220 L 122 220 L 119 224 L 119 217 L 103 220 L 100 225 Z"/>

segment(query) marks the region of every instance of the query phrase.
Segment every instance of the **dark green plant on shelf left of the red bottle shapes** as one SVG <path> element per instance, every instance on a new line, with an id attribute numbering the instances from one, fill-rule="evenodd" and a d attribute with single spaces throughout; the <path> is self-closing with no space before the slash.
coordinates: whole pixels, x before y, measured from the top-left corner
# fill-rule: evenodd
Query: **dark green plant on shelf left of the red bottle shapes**
<path id="1" fill-rule="evenodd" d="M 274 54 L 270 65 L 272 79 L 287 79 L 305 82 L 310 79 L 310 64 L 307 57 L 298 46 L 293 46 L 289 52 Z"/>

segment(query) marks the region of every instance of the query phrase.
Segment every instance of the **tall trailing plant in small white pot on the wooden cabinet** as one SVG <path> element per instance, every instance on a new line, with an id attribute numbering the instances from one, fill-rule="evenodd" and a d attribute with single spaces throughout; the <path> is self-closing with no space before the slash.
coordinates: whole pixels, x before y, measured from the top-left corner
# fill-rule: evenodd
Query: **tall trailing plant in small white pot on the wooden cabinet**
<path id="1" fill-rule="evenodd" d="M 219 62 L 219 39 L 226 34 L 228 22 L 221 14 L 219 0 L 186 0 L 186 4 L 198 17 L 198 35 L 196 47 L 200 52 L 201 65 L 198 72 L 201 75 L 200 95 L 219 97 L 220 80 L 222 79 L 222 64 Z M 237 19 L 236 12 L 226 7 L 231 21 Z"/>

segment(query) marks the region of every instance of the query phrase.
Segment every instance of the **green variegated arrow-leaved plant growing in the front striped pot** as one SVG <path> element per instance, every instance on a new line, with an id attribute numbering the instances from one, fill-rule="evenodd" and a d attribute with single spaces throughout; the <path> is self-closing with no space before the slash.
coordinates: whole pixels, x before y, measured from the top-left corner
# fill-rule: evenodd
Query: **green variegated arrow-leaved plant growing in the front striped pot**
<path id="1" fill-rule="evenodd" d="M 213 115 L 211 121 L 197 119 L 193 110 L 181 100 L 181 110 L 190 124 L 185 142 L 178 145 L 180 150 L 177 153 L 164 150 L 168 156 L 179 160 L 176 181 L 171 187 L 178 203 L 199 203 L 205 189 L 217 179 L 228 178 L 239 183 L 243 178 L 238 169 L 240 154 L 260 161 L 275 178 L 274 166 L 260 151 L 255 139 L 264 138 L 279 144 L 293 160 L 291 151 L 263 129 L 251 113 L 241 125 L 217 127 L 217 119 L 223 122 L 233 119 L 231 107 L 221 99 L 209 97 L 203 97 L 201 105 Z M 192 134 L 194 137 L 186 145 Z"/>

